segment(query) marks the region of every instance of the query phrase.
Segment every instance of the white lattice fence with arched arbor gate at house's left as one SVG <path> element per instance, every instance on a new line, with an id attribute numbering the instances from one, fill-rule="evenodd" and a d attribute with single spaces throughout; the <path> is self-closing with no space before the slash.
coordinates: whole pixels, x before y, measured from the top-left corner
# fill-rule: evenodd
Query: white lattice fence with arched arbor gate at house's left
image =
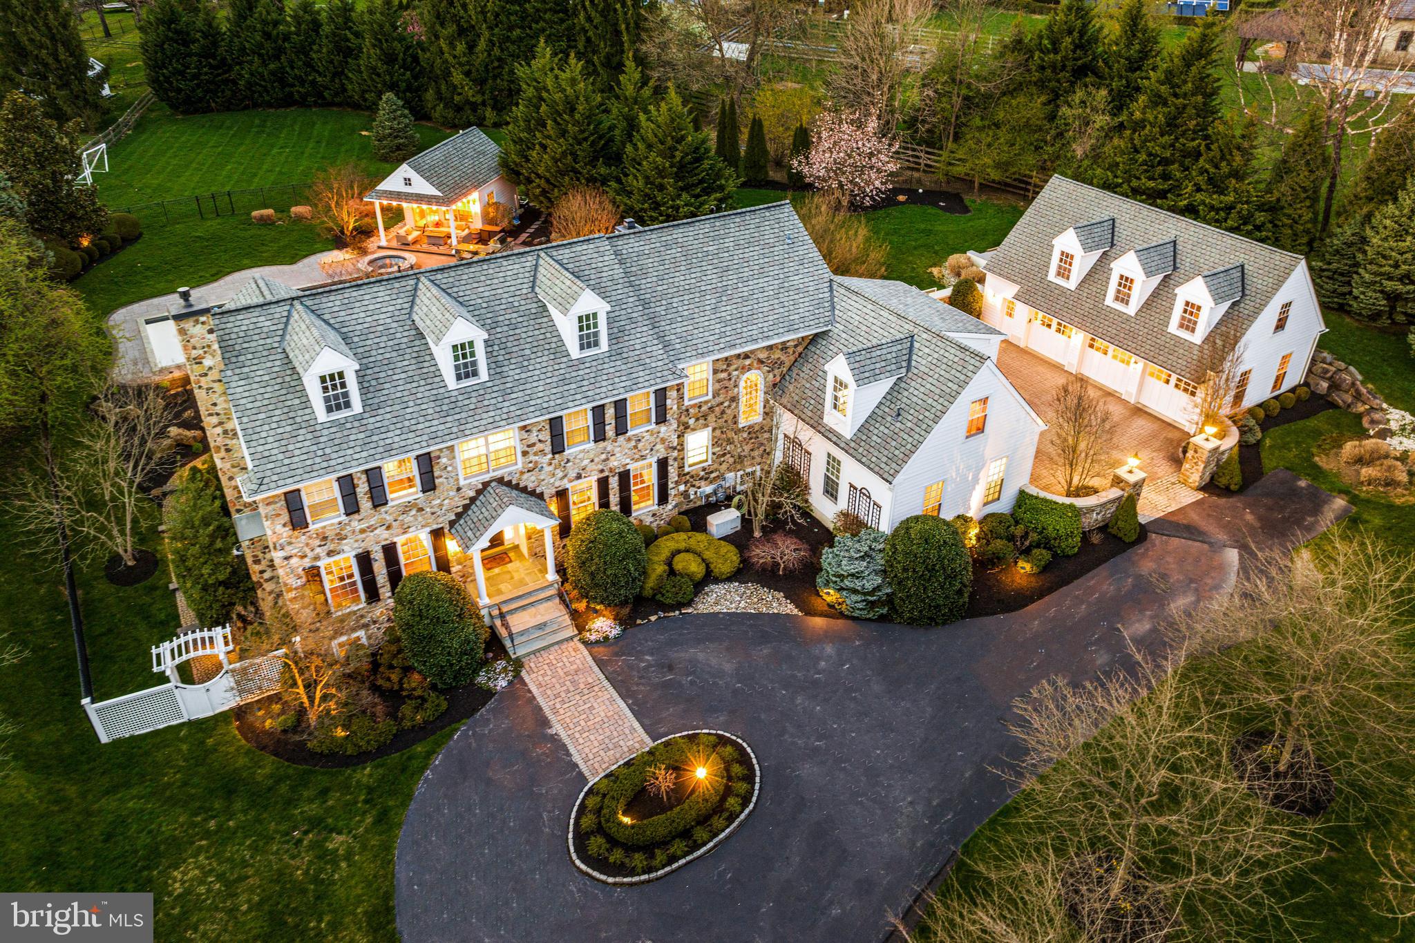
<path id="1" fill-rule="evenodd" d="M 83 710 L 98 732 L 99 742 L 133 737 L 211 717 L 238 704 L 253 701 L 280 690 L 284 649 L 232 662 L 235 650 L 231 626 L 197 629 L 153 646 L 153 672 L 167 676 L 166 684 L 133 691 L 106 701 L 83 698 Z M 202 684 L 185 684 L 177 669 L 183 662 L 211 656 L 221 660 L 221 672 Z"/>

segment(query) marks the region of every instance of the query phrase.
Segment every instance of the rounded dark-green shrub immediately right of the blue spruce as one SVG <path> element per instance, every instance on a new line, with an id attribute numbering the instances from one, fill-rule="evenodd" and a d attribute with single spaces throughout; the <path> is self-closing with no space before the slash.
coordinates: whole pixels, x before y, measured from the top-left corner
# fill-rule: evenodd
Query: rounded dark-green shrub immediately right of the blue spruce
<path id="1" fill-rule="evenodd" d="M 1012 546 L 1010 543 L 1007 544 Z M 914 515 L 884 540 L 890 612 L 908 625 L 945 625 L 968 611 L 972 560 L 958 530 L 935 515 Z"/>

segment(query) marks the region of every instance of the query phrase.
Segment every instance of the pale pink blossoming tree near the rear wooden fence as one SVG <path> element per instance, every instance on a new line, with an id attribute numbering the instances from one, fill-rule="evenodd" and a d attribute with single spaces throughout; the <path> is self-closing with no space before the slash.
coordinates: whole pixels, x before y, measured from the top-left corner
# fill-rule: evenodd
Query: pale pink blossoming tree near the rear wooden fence
<path id="1" fill-rule="evenodd" d="M 897 141 L 880 131 L 863 112 L 825 112 L 811 131 L 811 150 L 791 168 L 818 189 L 835 191 L 856 209 L 873 206 L 889 192 L 889 175 L 899 168 Z"/>

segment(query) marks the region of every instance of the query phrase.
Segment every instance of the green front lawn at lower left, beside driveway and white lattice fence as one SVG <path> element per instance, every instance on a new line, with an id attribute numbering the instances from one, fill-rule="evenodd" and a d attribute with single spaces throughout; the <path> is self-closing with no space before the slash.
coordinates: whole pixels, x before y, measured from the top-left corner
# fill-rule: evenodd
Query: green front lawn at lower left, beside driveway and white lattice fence
<path id="1" fill-rule="evenodd" d="M 0 541 L 23 546 L 6 519 Z M 0 790 L 0 886 L 151 891 L 160 940 L 395 939 L 398 831 L 450 732 L 347 771 L 266 756 L 231 714 L 100 745 L 79 707 L 59 581 L 11 563 L 0 609 L 23 614 L 10 640 L 30 655 L 0 670 L 0 711 L 21 725 L 6 746 L 16 773 Z M 149 646 L 177 631 L 164 574 L 115 588 L 83 568 L 99 698 L 157 683 Z"/>

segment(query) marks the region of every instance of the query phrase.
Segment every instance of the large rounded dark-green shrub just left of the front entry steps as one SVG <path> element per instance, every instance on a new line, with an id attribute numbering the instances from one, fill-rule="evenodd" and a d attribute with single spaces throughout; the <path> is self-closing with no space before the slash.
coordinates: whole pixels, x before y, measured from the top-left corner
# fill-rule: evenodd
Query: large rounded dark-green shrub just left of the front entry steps
<path id="1" fill-rule="evenodd" d="M 481 667 L 487 623 L 467 587 L 450 573 L 403 577 L 393 594 L 393 625 L 403 652 L 437 687 L 458 687 Z"/>

